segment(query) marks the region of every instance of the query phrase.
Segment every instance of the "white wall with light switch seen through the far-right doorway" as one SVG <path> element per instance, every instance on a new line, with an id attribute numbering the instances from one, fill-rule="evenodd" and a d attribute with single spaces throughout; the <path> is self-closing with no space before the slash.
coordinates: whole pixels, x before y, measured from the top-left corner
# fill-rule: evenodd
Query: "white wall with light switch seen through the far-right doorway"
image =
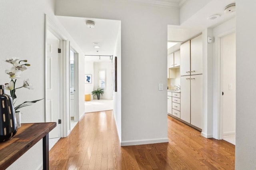
<path id="1" fill-rule="evenodd" d="M 236 132 L 236 34 L 221 38 L 220 55 L 223 63 L 223 135 Z M 232 89 L 229 85 L 232 85 Z"/>

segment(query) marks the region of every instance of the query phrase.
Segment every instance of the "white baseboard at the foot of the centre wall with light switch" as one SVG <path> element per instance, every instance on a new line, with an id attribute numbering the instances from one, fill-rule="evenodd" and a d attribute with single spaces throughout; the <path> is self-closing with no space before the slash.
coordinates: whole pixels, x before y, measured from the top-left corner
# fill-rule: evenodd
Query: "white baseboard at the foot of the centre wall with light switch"
<path id="1" fill-rule="evenodd" d="M 168 138 L 121 141 L 121 146 L 131 146 L 131 145 L 139 145 L 139 144 L 152 144 L 152 143 L 164 143 L 164 142 L 169 142 Z"/>

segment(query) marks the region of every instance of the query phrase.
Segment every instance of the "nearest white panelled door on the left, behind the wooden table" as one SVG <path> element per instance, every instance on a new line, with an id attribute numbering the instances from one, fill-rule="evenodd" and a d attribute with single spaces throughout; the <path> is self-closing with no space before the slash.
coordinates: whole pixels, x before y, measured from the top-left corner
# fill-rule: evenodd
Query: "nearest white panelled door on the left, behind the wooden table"
<path id="1" fill-rule="evenodd" d="M 48 35 L 50 32 L 48 32 Z M 46 83 L 47 83 L 47 103 L 46 103 L 46 122 L 56 122 L 57 126 L 49 133 L 49 138 L 60 137 L 60 126 L 58 119 L 60 115 L 59 104 L 59 54 L 58 54 L 58 39 L 47 38 L 47 61 L 46 61 Z"/>

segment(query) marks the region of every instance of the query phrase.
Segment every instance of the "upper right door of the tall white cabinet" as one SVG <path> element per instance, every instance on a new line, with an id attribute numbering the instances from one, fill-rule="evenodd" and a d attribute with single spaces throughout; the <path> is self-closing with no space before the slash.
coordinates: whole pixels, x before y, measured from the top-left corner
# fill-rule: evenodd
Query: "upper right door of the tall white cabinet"
<path id="1" fill-rule="evenodd" d="M 202 34 L 190 40 L 190 62 L 191 62 L 191 75 L 203 73 L 203 45 Z"/>

